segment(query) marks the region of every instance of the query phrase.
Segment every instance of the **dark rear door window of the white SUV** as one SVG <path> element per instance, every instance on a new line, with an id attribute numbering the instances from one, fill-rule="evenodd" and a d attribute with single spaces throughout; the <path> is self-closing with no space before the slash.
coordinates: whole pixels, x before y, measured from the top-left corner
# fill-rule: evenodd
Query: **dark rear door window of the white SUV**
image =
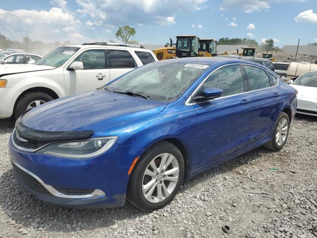
<path id="1" fill-rule="evenodd" d="M 110 50 L 110 68 L 134 68 L 133 57 L 127 51 Z"/>

